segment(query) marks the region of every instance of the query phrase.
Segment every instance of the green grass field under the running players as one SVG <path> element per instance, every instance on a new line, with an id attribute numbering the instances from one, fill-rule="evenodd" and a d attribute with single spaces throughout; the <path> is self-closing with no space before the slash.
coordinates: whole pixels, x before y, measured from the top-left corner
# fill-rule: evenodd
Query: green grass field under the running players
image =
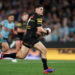
<path id="1" fill-rule="evenodd" d="M 56 71 L 47 75 L 75 75 L 75 61 L 48 61 Z M 0 60 L 0 75 L 44 75 L 41 60 Z"/>

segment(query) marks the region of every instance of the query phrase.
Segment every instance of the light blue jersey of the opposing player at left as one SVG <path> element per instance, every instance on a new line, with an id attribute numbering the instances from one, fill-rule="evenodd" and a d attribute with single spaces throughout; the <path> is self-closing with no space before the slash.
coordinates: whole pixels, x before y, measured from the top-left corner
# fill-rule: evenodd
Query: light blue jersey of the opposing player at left
<path id="1" fill-rule="evenodd" d="M 3 29 L 3 27 L 6 28 L 7 30 Z M 14 22 L 9 23 L 8 20 L 4 20 L 2 22 L 2 30 L 0 32 L 2 34 L 2 37 L 8 38 L 12 29 L 14 29 Z"/>

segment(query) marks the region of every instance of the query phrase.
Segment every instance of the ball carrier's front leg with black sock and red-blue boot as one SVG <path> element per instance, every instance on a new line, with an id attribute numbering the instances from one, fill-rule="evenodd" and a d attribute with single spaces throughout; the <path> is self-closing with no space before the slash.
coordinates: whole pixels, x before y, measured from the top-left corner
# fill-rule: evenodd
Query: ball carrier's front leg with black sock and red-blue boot
<path id="1" fill-rule="evenodd" d="M 47 49 L 46 47 L 41 43 L 41 42 L 38 42 L 34 45 L 34 47 L 38 50 L 40 50 L 41 52 L 41 59 L 42 59 L 42 62 L 43 62 L 43 67 L 44 67 L 44 73 L 50 73 L 50 72 L 53 72 L 55 71 L 55 69 L 49 69 L 48 66 L 47 66 Z"/>

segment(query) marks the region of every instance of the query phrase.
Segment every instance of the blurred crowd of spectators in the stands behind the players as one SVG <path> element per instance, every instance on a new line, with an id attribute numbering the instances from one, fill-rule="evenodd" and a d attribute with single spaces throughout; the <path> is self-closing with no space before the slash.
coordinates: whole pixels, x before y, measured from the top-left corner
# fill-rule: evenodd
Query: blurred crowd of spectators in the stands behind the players
<path id="1" fill-rule="evenodd" d="M 75 0 L 0 0 L 0 21 L 9 13 L 18 21 L 22 12 L 33 13 L 37 4 L 45 8 L 43 26 L 52 30 L 45 41 L 75 41 Z"/>

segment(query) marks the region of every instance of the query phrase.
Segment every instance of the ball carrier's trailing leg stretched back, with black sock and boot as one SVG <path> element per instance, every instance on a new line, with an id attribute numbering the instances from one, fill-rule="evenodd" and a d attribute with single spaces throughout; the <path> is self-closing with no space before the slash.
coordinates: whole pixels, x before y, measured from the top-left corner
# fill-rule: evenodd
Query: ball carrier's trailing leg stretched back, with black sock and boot
<path id="1" fill-rule="evenodd" d="M 11 53 L 11 54 L 2 54 L 1 58 L 11 57 L 11 58 L 20 58 L 24 59 L 29 52 L 29 48 L 22 45 L 21 50 L 19 50 L 17 53 Z"/>

